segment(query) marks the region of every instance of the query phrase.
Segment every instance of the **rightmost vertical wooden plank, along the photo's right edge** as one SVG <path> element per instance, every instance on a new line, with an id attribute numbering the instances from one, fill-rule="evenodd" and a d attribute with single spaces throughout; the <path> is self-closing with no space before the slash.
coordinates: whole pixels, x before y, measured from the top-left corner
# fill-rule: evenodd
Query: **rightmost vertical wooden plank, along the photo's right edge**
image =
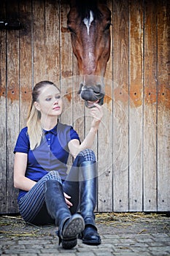
<path id="1" fill-rule="evenodd" d="M 158 3 L 158 211 L 170 211 L 170 3 Z"/>

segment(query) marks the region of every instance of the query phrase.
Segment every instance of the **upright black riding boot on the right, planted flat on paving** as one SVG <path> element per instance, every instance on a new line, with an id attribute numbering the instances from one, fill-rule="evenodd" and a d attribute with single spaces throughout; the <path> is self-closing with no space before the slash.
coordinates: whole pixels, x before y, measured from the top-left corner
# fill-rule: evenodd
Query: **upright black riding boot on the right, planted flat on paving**
<path id="1" fill-rule="evenodd" d="M 101 244 L 101 238 L 95 224 L 94 209 L 97 194 L 97 169 L 93 161 L 85 161 L 80 165 L 80 212 L 85 221 L 82 232 L 82 243 Z"/>

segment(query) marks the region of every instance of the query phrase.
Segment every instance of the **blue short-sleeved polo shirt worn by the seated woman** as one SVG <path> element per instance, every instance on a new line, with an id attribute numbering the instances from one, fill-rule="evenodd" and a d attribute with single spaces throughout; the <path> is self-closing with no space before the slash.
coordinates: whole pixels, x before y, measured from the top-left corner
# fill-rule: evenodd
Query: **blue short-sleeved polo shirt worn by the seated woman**
<path id="1" fill-rule="evenodd" d="M 28 128 L 21 129 L 15 145 L 15 152 L 28 154 L 26 177 L 33 181 L 39 181 L 50 170 L 58 170 L 61 179 L 66 178 L 66 163 L 69 157 L 68 143 L 70 140 L 80 140 L 77 132 L 72 126 L 58 123 L 50 131 L 45 131 L 45 138 L 42 139 L 39 147 L 30 149 Z M 26 194 L 20 190 L 18 200 Z"/>

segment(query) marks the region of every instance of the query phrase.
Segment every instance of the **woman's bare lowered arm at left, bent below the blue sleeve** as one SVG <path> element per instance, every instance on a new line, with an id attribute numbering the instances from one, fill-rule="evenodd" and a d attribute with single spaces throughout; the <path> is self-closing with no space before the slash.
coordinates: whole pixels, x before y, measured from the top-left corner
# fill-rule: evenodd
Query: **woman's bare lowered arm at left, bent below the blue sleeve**
<path id="1" fill-rule="evenodd" d="M 27 157 L 26 153 L 16 152 L 14 162 L 14 187 L 25 191 L 29 191 L 36 184 L 36 181 L 25 176 Z"/>

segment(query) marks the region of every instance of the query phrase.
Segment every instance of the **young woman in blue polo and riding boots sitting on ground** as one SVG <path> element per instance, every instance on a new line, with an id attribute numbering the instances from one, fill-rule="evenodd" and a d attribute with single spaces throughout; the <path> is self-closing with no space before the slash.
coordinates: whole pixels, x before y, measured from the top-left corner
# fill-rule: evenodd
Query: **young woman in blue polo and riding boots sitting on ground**
<path id="1" fill-rule="evenodd" d="M 84 244 L 101 244 L 96 207 L 96 157 L 91 149 L 103 116 L 100 105 L 90 109 L 93 121 L 85 140 L 73 127 L 58 122 L 63 102 L 50 81 L 36 83 L 27 127 L 15 145 L 14 186 L 20 189 L 18 206 L 26 222 L 58 226 L 59 244 L 71 249 L 80 234 Z M 69 153 L 74 157 L 66 173 Z M 80 211 L 80 214 L 77 214 Z"/>

